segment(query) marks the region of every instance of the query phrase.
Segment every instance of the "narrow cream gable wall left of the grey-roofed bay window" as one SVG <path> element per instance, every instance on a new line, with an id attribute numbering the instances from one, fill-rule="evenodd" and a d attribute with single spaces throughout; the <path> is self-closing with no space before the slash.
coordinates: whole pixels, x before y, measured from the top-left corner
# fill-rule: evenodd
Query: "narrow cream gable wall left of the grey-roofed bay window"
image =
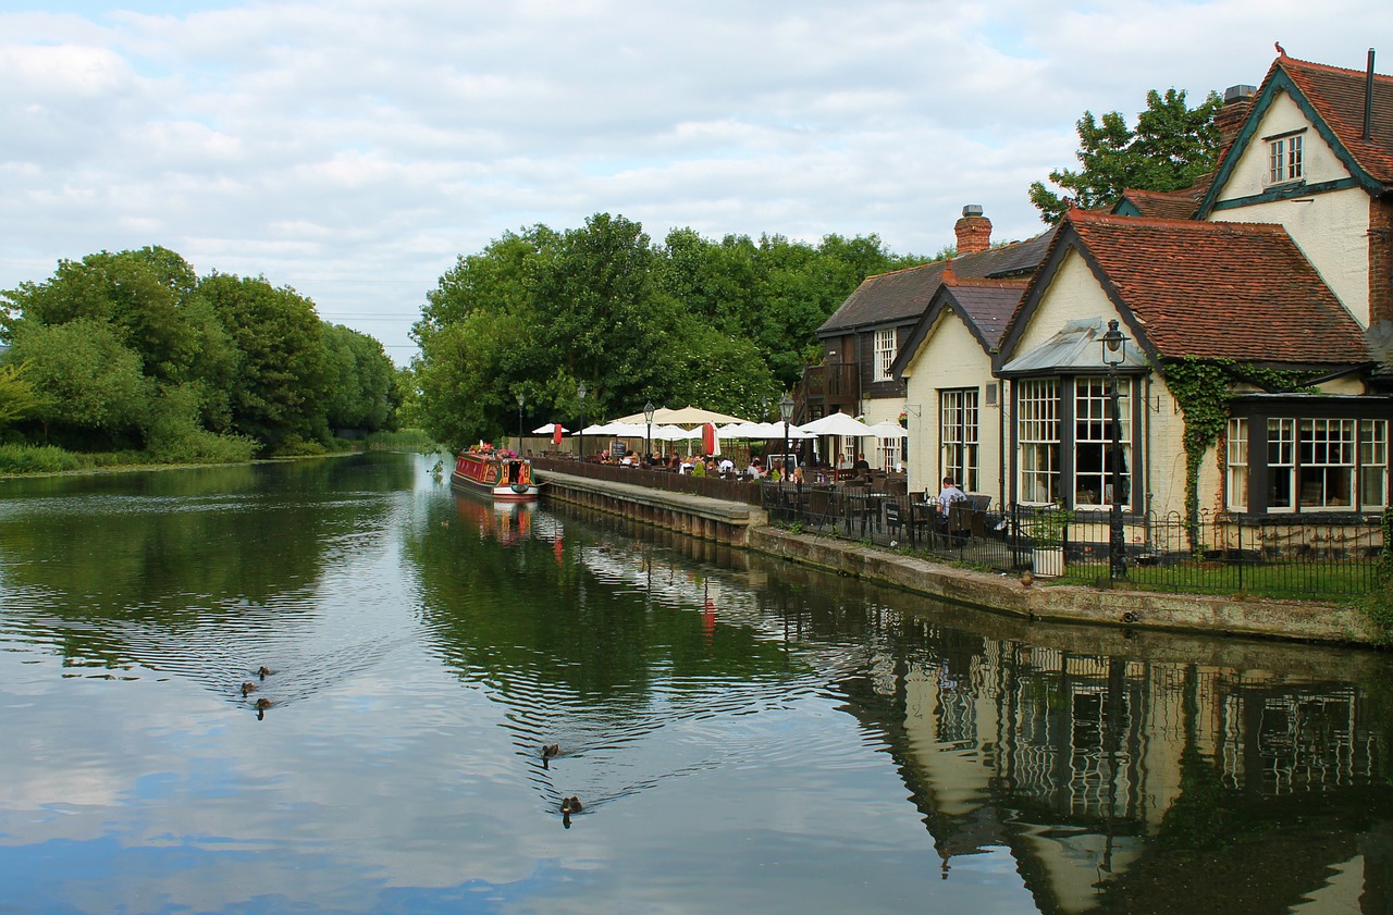
<path id="1" fill-rule="evenodd" d="M 986 405 L 993 383 L 992 358 L 963 319 L 944 309 L 919 345 L 905 372 L 905 412 L 910 419 L 910 492 L 939 490 L 939 391 L 975 387 L 978 404 L 978 486 L 975 493 L 1000 501 L 1002 398 Z"/>

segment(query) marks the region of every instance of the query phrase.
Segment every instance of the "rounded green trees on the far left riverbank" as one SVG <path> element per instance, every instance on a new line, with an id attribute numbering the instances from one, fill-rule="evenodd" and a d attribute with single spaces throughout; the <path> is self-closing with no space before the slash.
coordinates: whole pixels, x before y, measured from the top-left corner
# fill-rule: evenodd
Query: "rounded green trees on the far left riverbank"
<path id="1" fill-rule="evenodd" d="M 61 260 L 0 292 L 0 436 L 157 462 L 322 451 L 386 429 L 400 402 L 382 344 L 265 277 L 199 277 L 149 247 Z"/>

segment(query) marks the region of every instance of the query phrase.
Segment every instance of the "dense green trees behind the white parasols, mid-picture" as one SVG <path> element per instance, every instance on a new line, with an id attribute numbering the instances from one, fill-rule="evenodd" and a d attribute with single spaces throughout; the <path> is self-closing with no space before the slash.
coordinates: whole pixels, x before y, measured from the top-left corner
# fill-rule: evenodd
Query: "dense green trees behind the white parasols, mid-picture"
<path id="1" fill-rule="evenodd" d="M 520 396 L 528 426 L 646 401 L 756 416 L 816 361 L 818 326 L 861 280 L 922 262 L 875 235 L 809 245 L 678 228 L 655 244 L 609 213 L 504 233 L 426 297 L 412 418 L 460 446 L 515 432 Z"/>

